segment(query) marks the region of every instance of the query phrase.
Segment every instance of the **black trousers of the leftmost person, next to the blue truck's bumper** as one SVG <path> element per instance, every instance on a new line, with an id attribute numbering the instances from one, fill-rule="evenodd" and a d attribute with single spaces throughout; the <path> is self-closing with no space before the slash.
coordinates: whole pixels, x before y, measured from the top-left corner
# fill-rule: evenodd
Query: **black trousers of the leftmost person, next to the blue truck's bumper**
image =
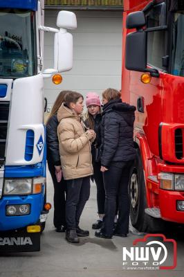
<path id="1" fill-rule="evenodd" d="M 48 170 L 53 179 L 54 185 L 54 226 L 66 226 L 65 204 L 66 204 L 66 181 L 62 180 L 58 183 L 55 177 L 55 166 L 48 162 Z"/>

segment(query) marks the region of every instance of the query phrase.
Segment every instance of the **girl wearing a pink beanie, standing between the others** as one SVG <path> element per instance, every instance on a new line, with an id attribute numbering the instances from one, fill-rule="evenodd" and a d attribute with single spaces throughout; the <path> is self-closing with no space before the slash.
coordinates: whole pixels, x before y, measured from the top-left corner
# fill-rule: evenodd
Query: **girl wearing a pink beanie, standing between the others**
<path id="1" fill-rule="evenodd" d="M 97 206 L 98 206 L 98 220 L 92 224 L 93 229 L 100 229 L 102 227 L 102 219 L 104 217 L 104 183 L 102 172 L 100 171 L 100 124 L 102 120 L 101 116 L 101 103 L 100 97 L 97 93 L 89 92 L 86 96 L 87 118 L 85 125 L 89 129 L 93 129 L 96 133 L 96 139 L 91 146 L 92 163 L 93 163 L 93 179 L 97 186 Z"/>

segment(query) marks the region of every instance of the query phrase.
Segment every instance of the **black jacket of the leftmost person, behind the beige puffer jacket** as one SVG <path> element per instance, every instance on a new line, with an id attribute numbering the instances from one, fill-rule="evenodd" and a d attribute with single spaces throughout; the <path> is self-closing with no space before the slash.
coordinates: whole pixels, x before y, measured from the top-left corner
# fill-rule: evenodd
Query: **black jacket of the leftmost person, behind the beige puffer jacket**
<path id="1" fill-rule="evenodd" d="M 46 124 L 46 150 L 47 160 L 54 166 L 60 166 L 59 141 L 57 137 L 57 115 L 52 116 Z"/>

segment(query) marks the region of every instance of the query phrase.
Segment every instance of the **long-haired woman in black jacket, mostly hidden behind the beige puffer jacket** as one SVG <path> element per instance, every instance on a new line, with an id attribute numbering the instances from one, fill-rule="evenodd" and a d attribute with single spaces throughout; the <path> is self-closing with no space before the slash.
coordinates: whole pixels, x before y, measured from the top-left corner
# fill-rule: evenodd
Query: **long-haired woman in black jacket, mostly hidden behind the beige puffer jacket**
<path id="1" fill-rule="evenodd" d="M 57 137 L 57 111 L 64 102 L 64 97 L 68 91 L 61 91 L 55 103 L 53 109 L 50 112 L 50 116 L 46 123 L 46 145 L 47 145 L 47 162 L 48 170 L 53 179 L 54 185 L 54 226 L 55 231 L 64 232 L 66 229 L 65 219 L 65 202 L 66 202 L 66 181 L 64 178 L 57 181 L 56 175 L 62 174 L 61 161 L 59 156 L 59 141 Z"/>

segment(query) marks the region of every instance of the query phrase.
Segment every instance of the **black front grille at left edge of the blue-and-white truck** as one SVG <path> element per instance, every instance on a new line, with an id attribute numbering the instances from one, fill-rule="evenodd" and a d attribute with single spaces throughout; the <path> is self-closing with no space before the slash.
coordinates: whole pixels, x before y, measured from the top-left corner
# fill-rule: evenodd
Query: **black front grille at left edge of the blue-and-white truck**
<path id="1" fill-rule="evenodd" d="M 0 165 L 5 161 L 9 107 L 9 102 L 0 102 Z"/>

